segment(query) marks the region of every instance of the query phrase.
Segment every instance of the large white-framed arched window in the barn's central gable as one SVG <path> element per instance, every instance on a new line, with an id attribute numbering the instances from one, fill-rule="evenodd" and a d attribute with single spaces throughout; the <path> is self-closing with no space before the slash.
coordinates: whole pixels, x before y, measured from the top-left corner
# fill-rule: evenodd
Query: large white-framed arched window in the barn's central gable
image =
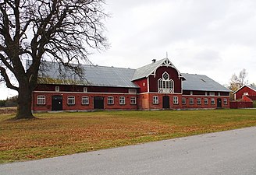
<path id="1" fill-rule="evenodd" d="M 174 93 L 174 82 L 167 72 L 162 74 L 162 79 L 158 79 L 158 93 Z"/>

